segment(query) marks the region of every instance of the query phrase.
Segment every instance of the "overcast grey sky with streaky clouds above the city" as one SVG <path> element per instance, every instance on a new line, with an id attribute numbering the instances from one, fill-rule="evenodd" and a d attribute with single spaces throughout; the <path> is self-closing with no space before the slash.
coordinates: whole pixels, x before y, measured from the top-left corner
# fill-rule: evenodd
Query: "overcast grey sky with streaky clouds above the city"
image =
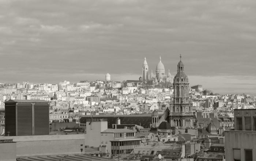
<path id="1" fill-rule="evenodd" d="M 0 83 L 138 80 L 144 57 L 190 85 L 256 94 L 255 0 L 0 0 Z"/>

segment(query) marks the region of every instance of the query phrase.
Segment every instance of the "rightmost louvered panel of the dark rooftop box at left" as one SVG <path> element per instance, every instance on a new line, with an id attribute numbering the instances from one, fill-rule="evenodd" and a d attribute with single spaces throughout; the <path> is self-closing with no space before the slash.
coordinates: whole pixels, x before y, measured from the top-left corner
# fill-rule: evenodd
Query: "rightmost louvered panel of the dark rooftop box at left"
<path id="1" fill-rule="evenodd" d="M 34 104 L 35 135 L 49 134 L 49 104 Z"/>

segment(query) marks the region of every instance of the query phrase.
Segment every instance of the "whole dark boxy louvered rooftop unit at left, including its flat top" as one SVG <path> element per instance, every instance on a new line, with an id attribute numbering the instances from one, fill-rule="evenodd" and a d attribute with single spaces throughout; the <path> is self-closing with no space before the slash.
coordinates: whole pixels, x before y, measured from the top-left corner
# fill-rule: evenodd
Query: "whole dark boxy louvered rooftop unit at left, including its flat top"
<path id="1" fill-rule="evenodd" d="M 49 102 L 8 100 L 5 102 L 5 136 L 49 134 Z"/>

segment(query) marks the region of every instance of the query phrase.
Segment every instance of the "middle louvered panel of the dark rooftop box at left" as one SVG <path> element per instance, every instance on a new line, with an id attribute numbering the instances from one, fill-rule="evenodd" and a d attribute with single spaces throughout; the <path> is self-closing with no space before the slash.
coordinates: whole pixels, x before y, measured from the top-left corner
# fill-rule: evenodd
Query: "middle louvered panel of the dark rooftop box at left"
<path id="1" fill-rule="evenodd" d="M 32 104 L 18 103 L 17 135 L 32 135 Z"/>

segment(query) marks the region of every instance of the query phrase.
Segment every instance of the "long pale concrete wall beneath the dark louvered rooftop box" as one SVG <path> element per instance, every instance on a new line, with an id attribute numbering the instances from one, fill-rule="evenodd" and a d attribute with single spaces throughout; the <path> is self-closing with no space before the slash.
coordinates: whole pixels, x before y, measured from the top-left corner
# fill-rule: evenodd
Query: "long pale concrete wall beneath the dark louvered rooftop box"
<path id="1" fill-rule="evenodd" d="M 84 134 L 33 135 L 4 137 L 16 142 L 16 156 L 81 153 L 85 145 Z M 81 146 L 82 145 L 82 146 Z"/>

